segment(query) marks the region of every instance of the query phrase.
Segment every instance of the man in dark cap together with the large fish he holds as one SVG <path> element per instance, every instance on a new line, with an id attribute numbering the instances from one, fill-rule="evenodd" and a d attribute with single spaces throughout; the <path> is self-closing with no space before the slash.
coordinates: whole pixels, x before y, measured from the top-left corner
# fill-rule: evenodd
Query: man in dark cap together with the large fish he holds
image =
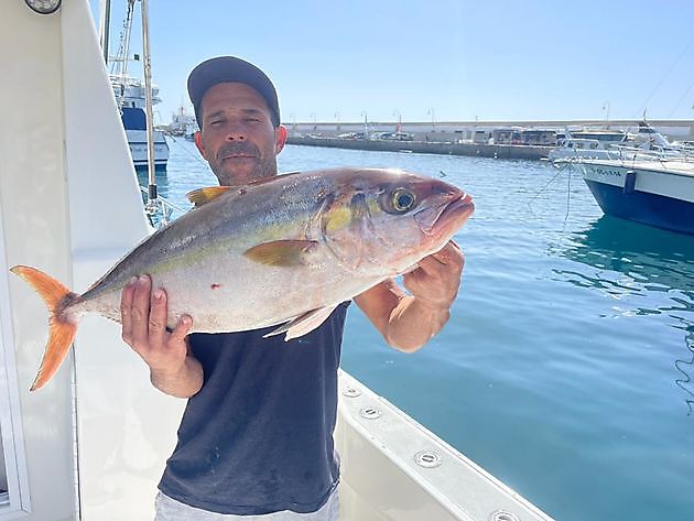
<path id="1" fill-rule="evenodd" d="M 156 521 L 335 520 L 333 431 L 345 316 L 354 302 L 412 352 L 444 326 L 464 257 L 451 237 L 474 210 L 440 180 L 381 169 L 278 176 L 286 141 L 272 82 L 225 56 L 188 77 L 195 144 L 219 186 L 85 293 L 12 271 L 51 311 L 44 386 L 79 318 L 122 323 L 152 384 L 187 398 Z M 392 279 L 403 274 L 404 287 Z M 232 333 L 224 333 L 232 332 Z"/>

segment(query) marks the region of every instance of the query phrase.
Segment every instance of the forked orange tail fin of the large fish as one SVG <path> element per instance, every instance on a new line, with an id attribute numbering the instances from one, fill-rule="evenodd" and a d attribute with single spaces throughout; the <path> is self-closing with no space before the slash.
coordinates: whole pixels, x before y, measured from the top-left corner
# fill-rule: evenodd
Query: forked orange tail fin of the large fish
<path id="1" fill-rule="evenodd" d="M 46 384 L 58 370 L 77 332 L 78 317 L 66 313 L 66 308 L 78 297 L 58 281 L 34 268 L 15 265 L 10 271 L 26 281 L 51 312 L 48 318 L 48 343 L 41 360 L 41 367 L 31 390 L 35 391 Z"/>

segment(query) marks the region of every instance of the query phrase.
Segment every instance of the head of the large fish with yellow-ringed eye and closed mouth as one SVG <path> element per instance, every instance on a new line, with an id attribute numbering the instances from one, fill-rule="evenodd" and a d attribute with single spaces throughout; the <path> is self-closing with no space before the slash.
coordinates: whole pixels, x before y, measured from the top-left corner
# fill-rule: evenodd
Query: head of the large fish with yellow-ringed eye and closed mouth
<path id="1" fill-rule="evenodd" d="M 443 248 L 474 210 L 470 195 L 443 181 L 360 171 L 330 194 L 322 242 L 355 272 L 394 276 Z"/>

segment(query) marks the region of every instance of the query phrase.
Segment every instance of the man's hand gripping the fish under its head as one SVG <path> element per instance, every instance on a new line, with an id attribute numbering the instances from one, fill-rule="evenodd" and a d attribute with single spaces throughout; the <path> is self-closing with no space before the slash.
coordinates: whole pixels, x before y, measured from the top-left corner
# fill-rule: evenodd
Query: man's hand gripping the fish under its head
<path id="1" fill-rule="evenodd" d="M 448 241 L 440 251 L 422 259 L 419 268 L 402 275 L 402 282 L 421 304 L 447 311 L 458 294 L 464 264 L 463 251 Z"/>

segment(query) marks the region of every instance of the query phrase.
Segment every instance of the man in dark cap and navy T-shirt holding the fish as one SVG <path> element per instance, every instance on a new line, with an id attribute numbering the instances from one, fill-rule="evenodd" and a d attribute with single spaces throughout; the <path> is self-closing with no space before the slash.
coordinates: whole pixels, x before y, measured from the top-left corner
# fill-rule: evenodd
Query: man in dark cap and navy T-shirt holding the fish
<path id="1" fill-rule="evenodd" d="M 195 144 L 219 184 L 278 174 L 286 129 L 262 70 L 213 58 L 191 73 L 188 94 L 200 128 Z M 414 351 L 448 319 L 463 264 L 449 242 L 403 276 L 410 295 L 389 280 L 355 302 L 389 345 Z M 147 275 L 123 290 L 123 339 L 154 387 L 189 399 L 159 486 L 158 521 L 337 519 L 333 430 L 347 305 L 289 343 L 262 338 L 272 328 L 186 337 L 192 318 L 169 333 L 165 292 L 151 292 Z"/>

